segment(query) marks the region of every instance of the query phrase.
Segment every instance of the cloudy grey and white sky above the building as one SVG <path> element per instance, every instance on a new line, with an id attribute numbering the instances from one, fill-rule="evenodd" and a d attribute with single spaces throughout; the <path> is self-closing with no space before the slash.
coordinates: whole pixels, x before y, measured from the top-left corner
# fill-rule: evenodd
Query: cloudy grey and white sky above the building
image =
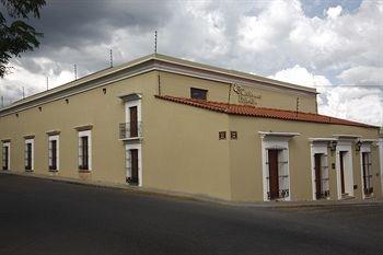
<path id="1" fill-rule="evenodd" d="M 0 7 L 1 8 L 1 7 Z M 47 0 L 42 46 L 0 79 L 5 103 L 153 51 L 316 88 L 320 113 L 383 124 L 379 0 Z"/>

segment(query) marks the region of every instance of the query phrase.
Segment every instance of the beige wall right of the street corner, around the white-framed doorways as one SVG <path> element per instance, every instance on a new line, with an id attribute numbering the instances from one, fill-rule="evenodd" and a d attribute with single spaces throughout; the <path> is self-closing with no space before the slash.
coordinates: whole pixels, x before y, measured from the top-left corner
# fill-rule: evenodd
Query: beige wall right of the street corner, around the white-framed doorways
<path id="1" fill-rule="evenodd" d="M 230 117 L 230 130 L 237 131 L 237 140 L 230 141 L 231 188 L 234 200 L 263 200 L 262 138 L 258 131 L 299 132 L 289 141 L 289 167 L 292 200 L 312 199 L 312 170 L 310 138 L 328 138 L 333 135 L 358 135 L 365 139 L 376 139 L 378 129 L 343 125 L 326 125 L 304 121 L 288 121 L 270 118 Z M 372 171 L 375 194 L 382 193 L 379 181 L 378 149 L 371 147 Z M 335 154 L 328 153 L 329 166 L 335 163 Z M 358 185 L 356 197 L 361 198 L 360 154 L 352 147 L 353 181 Z M 330 195 L 336 199 L 336 171 L 329 167 Z"/>

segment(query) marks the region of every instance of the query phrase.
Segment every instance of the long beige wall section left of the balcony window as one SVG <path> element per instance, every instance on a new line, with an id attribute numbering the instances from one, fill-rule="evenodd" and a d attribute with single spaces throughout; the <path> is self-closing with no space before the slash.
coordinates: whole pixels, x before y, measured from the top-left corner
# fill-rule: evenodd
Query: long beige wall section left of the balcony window
<path id="1" fill-rule="evenodd" d="M 81 176 L 94 181 L 125 182 L 125 147 L 118 140 L 118 124 L 125 121 L 121 94 L 144 93 L 156 76 L 154 72 L 69 96 L 69 104 L 58 100 L 38 107 L 0 118 L 0 138 L 11 139 L 11 170 L 24 172 L 24 138 L 34 135 L 34 172 L 48 172 L 48 136 L 46 131 L 59 130 L 59 172 L 57 175 L 79 177 L 78 126 L 92 125 L 92 171 Z M 2 160 L 2 159 L 1 159 Z"/>

